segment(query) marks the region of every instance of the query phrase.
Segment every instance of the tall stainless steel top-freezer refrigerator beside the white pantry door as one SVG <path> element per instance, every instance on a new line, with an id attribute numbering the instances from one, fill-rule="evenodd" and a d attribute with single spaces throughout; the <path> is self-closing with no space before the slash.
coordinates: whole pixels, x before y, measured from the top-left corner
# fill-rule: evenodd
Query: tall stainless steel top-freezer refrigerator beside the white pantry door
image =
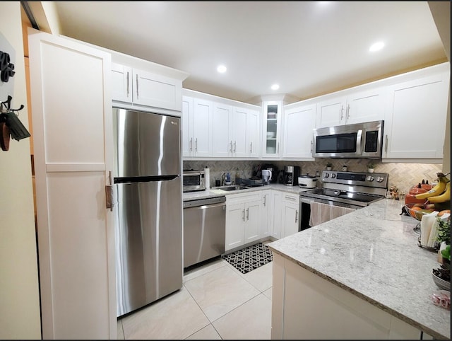
<path id="1" fill-rule="evenodd" d="M 117 316 L 182 288 L 180 124 L 113 108 Z"/>

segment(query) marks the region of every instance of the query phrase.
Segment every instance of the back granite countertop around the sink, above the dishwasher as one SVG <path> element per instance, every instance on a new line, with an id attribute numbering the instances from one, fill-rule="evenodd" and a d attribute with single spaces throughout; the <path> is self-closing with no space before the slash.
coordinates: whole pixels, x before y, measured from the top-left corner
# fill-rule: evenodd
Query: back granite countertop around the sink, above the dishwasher
<path id="1" fill-rule="evenodd" d="M 223 187 L 230 187 L 230 186 L 223 186 Z M 232 191 L 226 191 L 221 190 L 222 187 L 212 187 L 210 190 L 200 190 L 196 192 L 184 192 L 182 193 L 182 200 L 184 202 L 191 201 L 191 200 L 198 200 L 198 199 L 208 199 L 211 197 L 223 197 L 225 195 L 234 195 L 234 194 L 241 194 L 246 192 L 254 192 L 256 190 L 281 190 L 283 192 L 288 193 L 295 193 L 299 194 L 300 192 L 304 192 L 306 190 L 311 190 L 311 188 L 302 188 L 297 186 L 287 186 L 283 185 L 281 183 L 272 183 L 270 185 L 263 185 L 263 186 L 256 186 L 256 187 L 250 187 L 246 190 L 232 190 Z"/>

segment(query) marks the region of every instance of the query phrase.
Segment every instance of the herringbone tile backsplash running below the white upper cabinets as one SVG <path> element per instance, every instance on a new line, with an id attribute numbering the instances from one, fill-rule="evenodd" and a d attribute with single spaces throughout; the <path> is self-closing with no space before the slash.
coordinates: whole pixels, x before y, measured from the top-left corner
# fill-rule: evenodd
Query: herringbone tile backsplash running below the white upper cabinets
<path id="1" fill-rule="evenodd" d="M 299 166 L 302 174 L 309 173 L 315 175 L 316 171 L 326 169 L 326 163 L 333 163 L 333 171 L 340 171 L 343 165 L 347 165 L 347 170 L 352 172 L 367 172 L 367 158 L 333 158 L 313 162 L 299 161 L 184 161 L 184 169 L 201 170 L 208 166 L 210 168 L 210 187 L 215 185 L 215 178 L 220 179 L 222 173 L 230 172 L 231 180 L 234 180 L 238 172 L 241 178 L 250 178 L 253 166 L 256 164 L 273 164 L 278 170 L 284 166 Z M 440 163 L 382 163 L 374 160 L 375 173 L 388 173 L 388 187 L 397 186 L 400 193 L 408 193 L 410 187 L 417 185 L 422 180 L 429 180 L 432 183 L 436 180 L 436 173 L 441 172 Z"/>

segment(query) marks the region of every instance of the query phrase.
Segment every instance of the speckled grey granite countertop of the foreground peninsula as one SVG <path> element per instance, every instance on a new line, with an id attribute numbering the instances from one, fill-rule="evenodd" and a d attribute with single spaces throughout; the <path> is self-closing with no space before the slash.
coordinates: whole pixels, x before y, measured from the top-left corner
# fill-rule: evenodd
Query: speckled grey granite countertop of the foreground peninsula
<path id="1" fill-rule="evenodd" d="M 273 252 L 432 335 L 451 338 L 451 311 L 432 303 L 437 253 L 417 245 L 419 221 L 383 199 L 269 243 Z"/>

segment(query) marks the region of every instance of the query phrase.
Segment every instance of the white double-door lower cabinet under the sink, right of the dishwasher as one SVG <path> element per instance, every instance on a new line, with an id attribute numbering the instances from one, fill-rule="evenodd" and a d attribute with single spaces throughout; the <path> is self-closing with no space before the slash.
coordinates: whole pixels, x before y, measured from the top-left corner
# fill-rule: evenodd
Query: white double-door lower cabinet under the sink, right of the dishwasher
<path id="1" fill-rule="evenodd" d="M 226 196 L 225 251 L 257 241 L 261 236 L 263 193 Z"/>

